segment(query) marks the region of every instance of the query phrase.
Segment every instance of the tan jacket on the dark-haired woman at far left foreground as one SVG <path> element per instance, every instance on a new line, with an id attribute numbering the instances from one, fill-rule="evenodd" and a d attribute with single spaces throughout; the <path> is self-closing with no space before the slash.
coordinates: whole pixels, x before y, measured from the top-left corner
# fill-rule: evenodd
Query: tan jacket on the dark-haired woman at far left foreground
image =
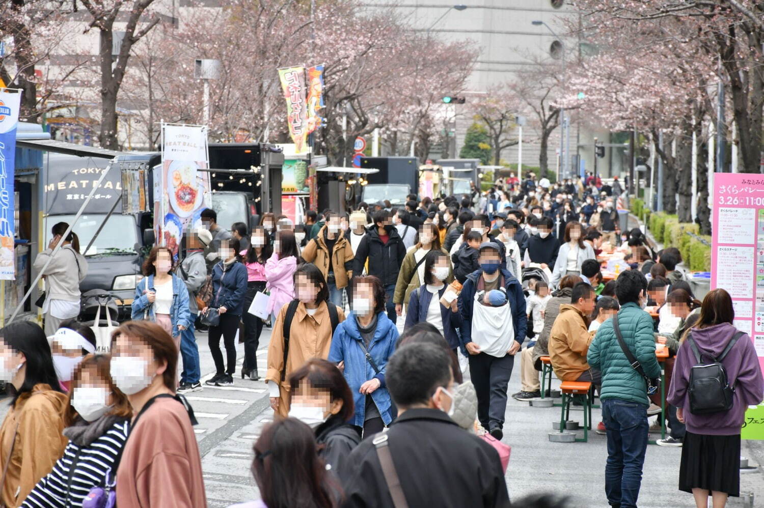
<path id="1" fill-rule="evenodd" d="M 61 433 L 66 402 L 65 393 L 40 383 L 31 393 L 19 396 L 8 410 L 0 427 L 0 471 L 5 468 L 11 445 L 13 453 L 0 494 L 2 505 L 20 506 L 63 454 L 69 442 Z"/>

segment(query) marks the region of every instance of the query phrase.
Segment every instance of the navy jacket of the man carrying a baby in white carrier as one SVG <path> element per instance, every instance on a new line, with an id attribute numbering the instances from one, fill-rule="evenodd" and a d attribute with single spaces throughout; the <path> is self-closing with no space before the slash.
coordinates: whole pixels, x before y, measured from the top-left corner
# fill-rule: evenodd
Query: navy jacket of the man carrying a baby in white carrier
<path id="1" fill-rule="evenodd" d="M 465 346 L 472 341 L 472 306 L 475 300 L 475 288 L 478 287 L 478 277 L 483 270 L 475 270 L 467 276 L 464 286 L 459 293 L 459 312 L 461 312 L 461 345 Z M 507 300 L 512 310 L 512 325 L 515 328 L 515 341 L 523 344 L 528 327 L 528 315 L 526 314 L 526 301 L 523 294 L 523 286 L 506 268 L 501 268 L 504 277 L 504 287 L 507 289 Z"/>

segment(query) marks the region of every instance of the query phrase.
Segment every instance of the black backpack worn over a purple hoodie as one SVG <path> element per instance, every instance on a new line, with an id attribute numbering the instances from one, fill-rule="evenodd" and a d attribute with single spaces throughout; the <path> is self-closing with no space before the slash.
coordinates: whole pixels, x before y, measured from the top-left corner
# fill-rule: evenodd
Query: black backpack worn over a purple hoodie
<path id="1" fill-rule="evenodd" d="M 737 339 L 743 336 L 743 332 L 737 332 L 730 339 L 730 343 L 724 348 L 719 358 L 714 358 L 707 353 L 698 351 L 698 345 L 692 338 L 692 333 L 687 335 L 695 361 L 698 363 L 690 369 L 690 413 L 694 415 L 707 415 L 729 411 L 733 404 L 735 389 L 730 387 L 727 379 L 727 369 L 721 363 L 727 353 L 730 352 Z M 713 362 L 705 363 L 703 357 L 711 358 Z"/>

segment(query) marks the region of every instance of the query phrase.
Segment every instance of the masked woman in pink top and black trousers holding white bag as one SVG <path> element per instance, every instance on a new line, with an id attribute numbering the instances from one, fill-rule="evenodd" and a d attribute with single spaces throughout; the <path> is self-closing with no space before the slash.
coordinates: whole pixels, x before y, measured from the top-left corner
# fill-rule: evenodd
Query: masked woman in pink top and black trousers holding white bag
<path id="1" fill-rule="evenodd" d="M 244 267 L 247 268 L 247 293 L 244 295 L 244 364 L 241 365 L 241 379 L 249 377 L 253 381 L 260 379 L 257 372 L 257 346 L 260 345 L 260 335 L 263 332 L 263 320 L 248 311 L 254 296 L 265 292 L 267 278 L 265 264 L 273 248 L 268 243 L 268 234 L 262 226 L 252 228 L 250 247 L 244 254 Z"/>

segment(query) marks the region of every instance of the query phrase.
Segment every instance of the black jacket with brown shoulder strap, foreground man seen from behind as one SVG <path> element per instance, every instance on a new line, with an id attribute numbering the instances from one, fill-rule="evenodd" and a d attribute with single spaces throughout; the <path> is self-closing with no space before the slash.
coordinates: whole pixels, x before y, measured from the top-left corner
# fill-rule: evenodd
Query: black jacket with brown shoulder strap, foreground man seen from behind
<path id="1" fill-rule="evenodd" d="M 439 409 L 409 409 L 387 432 L 408 505 L 438 508 L 510 506 L 499 454 Z M 372 439 L 356 447 L 342 478 L 345 508 L 393 508 Z"/>

